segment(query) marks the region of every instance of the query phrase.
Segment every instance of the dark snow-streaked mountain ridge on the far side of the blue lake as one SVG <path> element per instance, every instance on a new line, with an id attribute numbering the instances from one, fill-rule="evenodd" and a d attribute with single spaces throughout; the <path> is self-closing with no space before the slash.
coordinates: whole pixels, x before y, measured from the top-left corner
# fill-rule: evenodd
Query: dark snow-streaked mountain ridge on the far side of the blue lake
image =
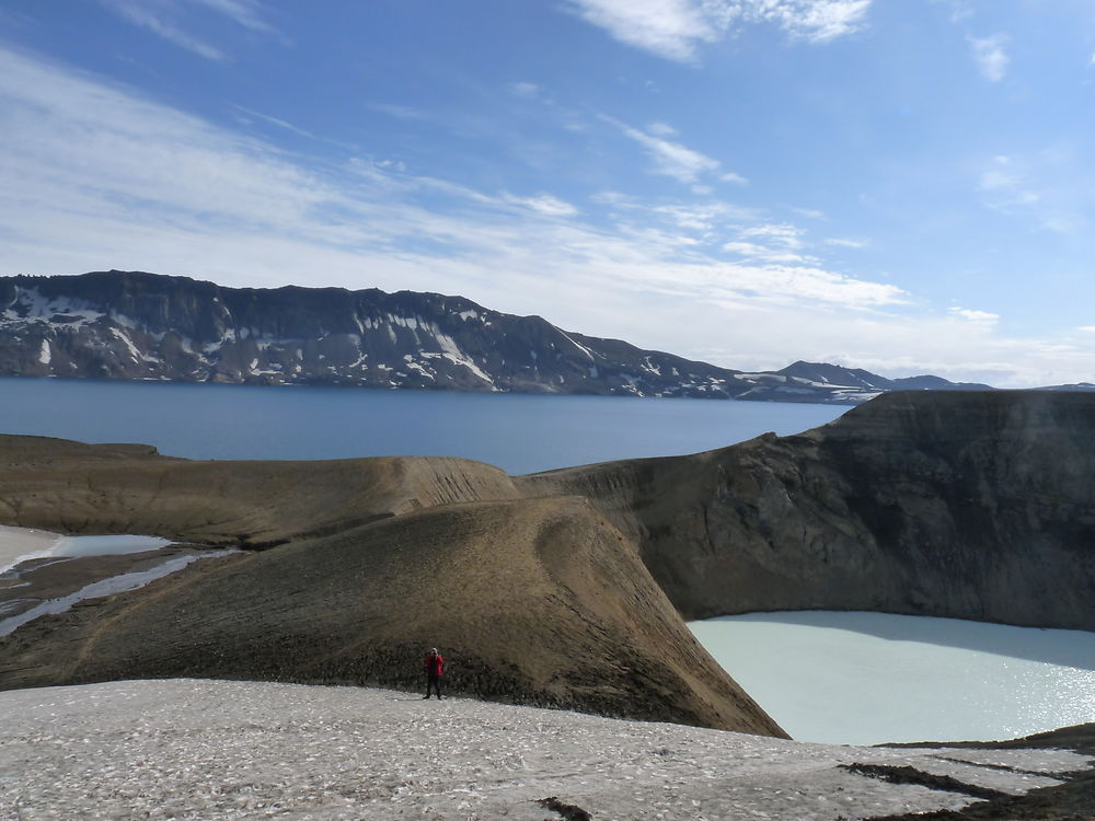
<path id="1" fill-rule="evenodd" d="M 224 288 L 117 270 L 0 277 L 0 373 L 833 404 L 988 388 L 802 361 L 747 373 L 462 297 Z"/>

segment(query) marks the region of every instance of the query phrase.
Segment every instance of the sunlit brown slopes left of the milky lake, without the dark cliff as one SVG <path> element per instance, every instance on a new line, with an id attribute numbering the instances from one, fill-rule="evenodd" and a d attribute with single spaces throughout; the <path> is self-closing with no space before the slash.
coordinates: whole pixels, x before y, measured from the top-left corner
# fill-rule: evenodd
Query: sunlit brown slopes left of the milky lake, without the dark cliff
<path id="1" fill-rule="evenodd" d="M 186 462 L 0 440 L 0 518 L 275 545 L 44 616 L 0 639 L 0 687 L 208 677 L 418 684 L 783 736 L 695 641 L 588 501 L 518 499 L 463 460 Z M 493 497 L 493 498 L 491 498 Z"/>

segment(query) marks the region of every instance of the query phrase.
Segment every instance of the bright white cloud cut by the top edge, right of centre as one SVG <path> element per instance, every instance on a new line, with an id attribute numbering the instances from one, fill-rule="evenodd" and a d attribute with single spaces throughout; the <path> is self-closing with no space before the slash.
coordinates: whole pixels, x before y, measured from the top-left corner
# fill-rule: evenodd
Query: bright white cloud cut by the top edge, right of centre
<path id="1" fill-rule="evenodd" d="M 768 23 L 825 43 L 862 27 L 872 0 L 570 0 L 569 8 L 627 45 L 691 61 L 704 43 Z"/>

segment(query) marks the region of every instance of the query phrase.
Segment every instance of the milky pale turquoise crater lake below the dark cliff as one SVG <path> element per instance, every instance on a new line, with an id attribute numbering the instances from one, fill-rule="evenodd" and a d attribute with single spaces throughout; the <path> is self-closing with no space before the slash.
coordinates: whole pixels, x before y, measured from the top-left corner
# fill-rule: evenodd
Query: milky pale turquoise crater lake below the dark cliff
<path id="1" fill-rule="evenodd" d="M 689 627 L 799 741 L 991 741 L 1095 721 L 1095 633 L 822 611 Z"/>

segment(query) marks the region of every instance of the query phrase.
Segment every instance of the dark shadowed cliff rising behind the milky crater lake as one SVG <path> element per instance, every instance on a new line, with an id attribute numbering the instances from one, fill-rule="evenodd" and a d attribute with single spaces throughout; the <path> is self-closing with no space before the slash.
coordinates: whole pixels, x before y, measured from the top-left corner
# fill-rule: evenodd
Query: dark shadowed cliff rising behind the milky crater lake
<path id="1" fill-rule="evenodd" d="M 1095 629 L 1095 396 L 894 393 L 806 433 L 521 479 L 588 495 L 688 617 Z"/>

